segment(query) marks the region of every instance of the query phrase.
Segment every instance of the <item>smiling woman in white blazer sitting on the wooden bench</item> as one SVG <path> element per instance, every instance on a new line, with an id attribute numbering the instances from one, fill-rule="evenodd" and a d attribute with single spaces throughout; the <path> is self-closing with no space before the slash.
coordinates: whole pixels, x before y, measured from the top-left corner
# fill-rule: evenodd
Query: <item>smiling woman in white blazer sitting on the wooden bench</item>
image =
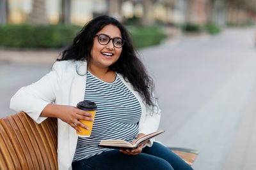
<path id="1" fill-rule="evenodd" d="M 88 22 L 52 71 L 22 87 L 10 107 L 25 111 L 38 124 L 58 118 L 59 169 L 191 169 L 153 139 L 134 150 L 99 148 L 102 139 L 134 139 L 157 131 L 160 110 L 153 83 L 115 18 L 100 16 Z M 77 137 L 90 113 L 77 109 L 79 101 L 97 104 L 90 138 Z"/>

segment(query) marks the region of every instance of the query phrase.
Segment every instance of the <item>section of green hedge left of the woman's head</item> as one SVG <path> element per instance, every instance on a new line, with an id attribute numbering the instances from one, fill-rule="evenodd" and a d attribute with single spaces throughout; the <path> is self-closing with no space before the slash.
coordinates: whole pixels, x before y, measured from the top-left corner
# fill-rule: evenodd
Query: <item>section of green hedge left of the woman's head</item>
<path id="1" fill-rule="evenodd" d="M 60 48 L 72 43 L 80 29 L 71 25 L 3 25 L 0 27 L 0 46 Z"/>

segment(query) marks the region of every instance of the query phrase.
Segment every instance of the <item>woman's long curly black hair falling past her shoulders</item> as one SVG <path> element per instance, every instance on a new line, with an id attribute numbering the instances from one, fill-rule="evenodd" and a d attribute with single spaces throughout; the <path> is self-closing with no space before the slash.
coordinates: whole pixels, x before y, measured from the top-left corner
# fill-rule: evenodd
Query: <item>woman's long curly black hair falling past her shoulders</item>
<path id="1" fill-rule="evenodd" d="M 74 38 L 72 45 L 68 46 L 68 48 L 61 53 L 61 59 L 57 60 L 86 60 L 90 63 L 92 59 L 91 50 L 93 38 L 97 32 L 109 24 L 118 27 L 121 31 L 122 39 L 125 39 L 119 59 L 109 66 L 109 69 L 122 74 L 125 81 L 129 81 L 134 90 L 141 94 L 146 104 L 148 106 L 154 106 L 154 101 L 152 101 L 154 82 L 152 78 L 148 76 L 140 59 L 138 59 L 127 29 L 113 17 L 102 15 L 84 25 L 83 29 L 81 29 Z"/>

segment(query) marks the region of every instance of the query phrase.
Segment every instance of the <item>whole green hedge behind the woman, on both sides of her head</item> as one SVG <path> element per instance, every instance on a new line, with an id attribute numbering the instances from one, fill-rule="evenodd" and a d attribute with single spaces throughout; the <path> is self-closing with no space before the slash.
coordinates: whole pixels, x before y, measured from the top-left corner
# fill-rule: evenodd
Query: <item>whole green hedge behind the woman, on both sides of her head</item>
<path id="1" fill-rule="evenodd" d="M 158 45 L 166 38 L 159 27 L 128 27 L 136 48 Z M 0 46 L 14 48 L 61 48 L 70 45 L 81 27 L 74 25 L 3 25 Z"/>

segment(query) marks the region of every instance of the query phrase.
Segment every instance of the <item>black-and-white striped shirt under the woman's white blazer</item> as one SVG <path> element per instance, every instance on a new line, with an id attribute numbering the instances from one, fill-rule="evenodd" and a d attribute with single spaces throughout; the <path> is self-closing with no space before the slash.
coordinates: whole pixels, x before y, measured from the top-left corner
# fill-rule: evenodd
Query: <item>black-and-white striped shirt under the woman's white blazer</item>
<path id="1" fill-rule="evenodd" d="M 89 138 L 78 137 L 73 161 L 113 150 L 99 148 L 97 145 L 101 140 L 122 139 L 131 142 L 136 138 L 141 106 L 117 74 L 115 81 L 108 83 L 88 71 L 84 100 L 95 102 L 97 112 L 91 136 Z"/>

